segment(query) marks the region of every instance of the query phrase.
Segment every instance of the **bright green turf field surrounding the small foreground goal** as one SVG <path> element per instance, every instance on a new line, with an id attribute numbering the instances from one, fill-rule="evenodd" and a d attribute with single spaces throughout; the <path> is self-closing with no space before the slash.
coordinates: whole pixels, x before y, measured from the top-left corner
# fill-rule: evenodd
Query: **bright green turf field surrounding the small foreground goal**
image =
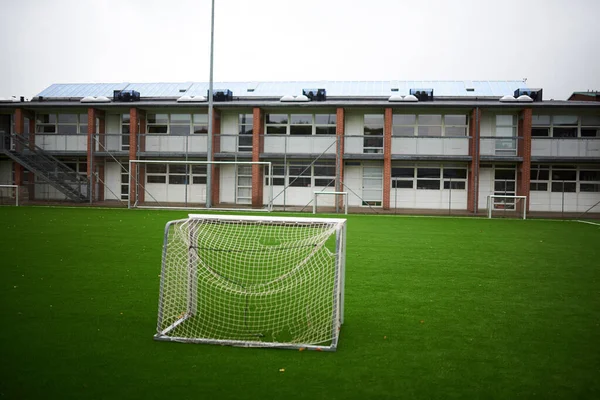
<path id="1" fill-rule="evenodd" d="M 325 353 L 153 341 L 184 216 L 0 207 L 0 399 L 600 398 L 599 226 L 350 215 Z"/>

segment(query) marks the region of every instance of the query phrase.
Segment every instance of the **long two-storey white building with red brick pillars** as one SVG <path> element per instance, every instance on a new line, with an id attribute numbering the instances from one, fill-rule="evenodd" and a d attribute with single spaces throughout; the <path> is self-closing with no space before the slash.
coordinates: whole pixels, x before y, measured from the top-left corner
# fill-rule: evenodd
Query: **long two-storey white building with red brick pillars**
<path id="1" fill-rule="evenodd" d="M 355 211 L 478 213 L 496 194 L 600 212 L 598 103 L 520 81 L 218 83 L 209 124 L 207 88 L 57 84 L 0 102 L 0 184 L 36 202 L 303 209 L 338 191 Z M 206 160 L 229 163 L 189 163 Z"/>

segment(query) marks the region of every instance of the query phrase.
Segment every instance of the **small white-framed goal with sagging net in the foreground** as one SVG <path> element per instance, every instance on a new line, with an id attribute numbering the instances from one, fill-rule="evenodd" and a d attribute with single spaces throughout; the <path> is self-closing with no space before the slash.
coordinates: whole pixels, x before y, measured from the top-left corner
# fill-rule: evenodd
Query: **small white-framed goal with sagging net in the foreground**
<path id="1" fill-rule="evenodd" d="M 190 215 L 165 228 L 157 340 L 335 350 L 345 219 Z"/>

